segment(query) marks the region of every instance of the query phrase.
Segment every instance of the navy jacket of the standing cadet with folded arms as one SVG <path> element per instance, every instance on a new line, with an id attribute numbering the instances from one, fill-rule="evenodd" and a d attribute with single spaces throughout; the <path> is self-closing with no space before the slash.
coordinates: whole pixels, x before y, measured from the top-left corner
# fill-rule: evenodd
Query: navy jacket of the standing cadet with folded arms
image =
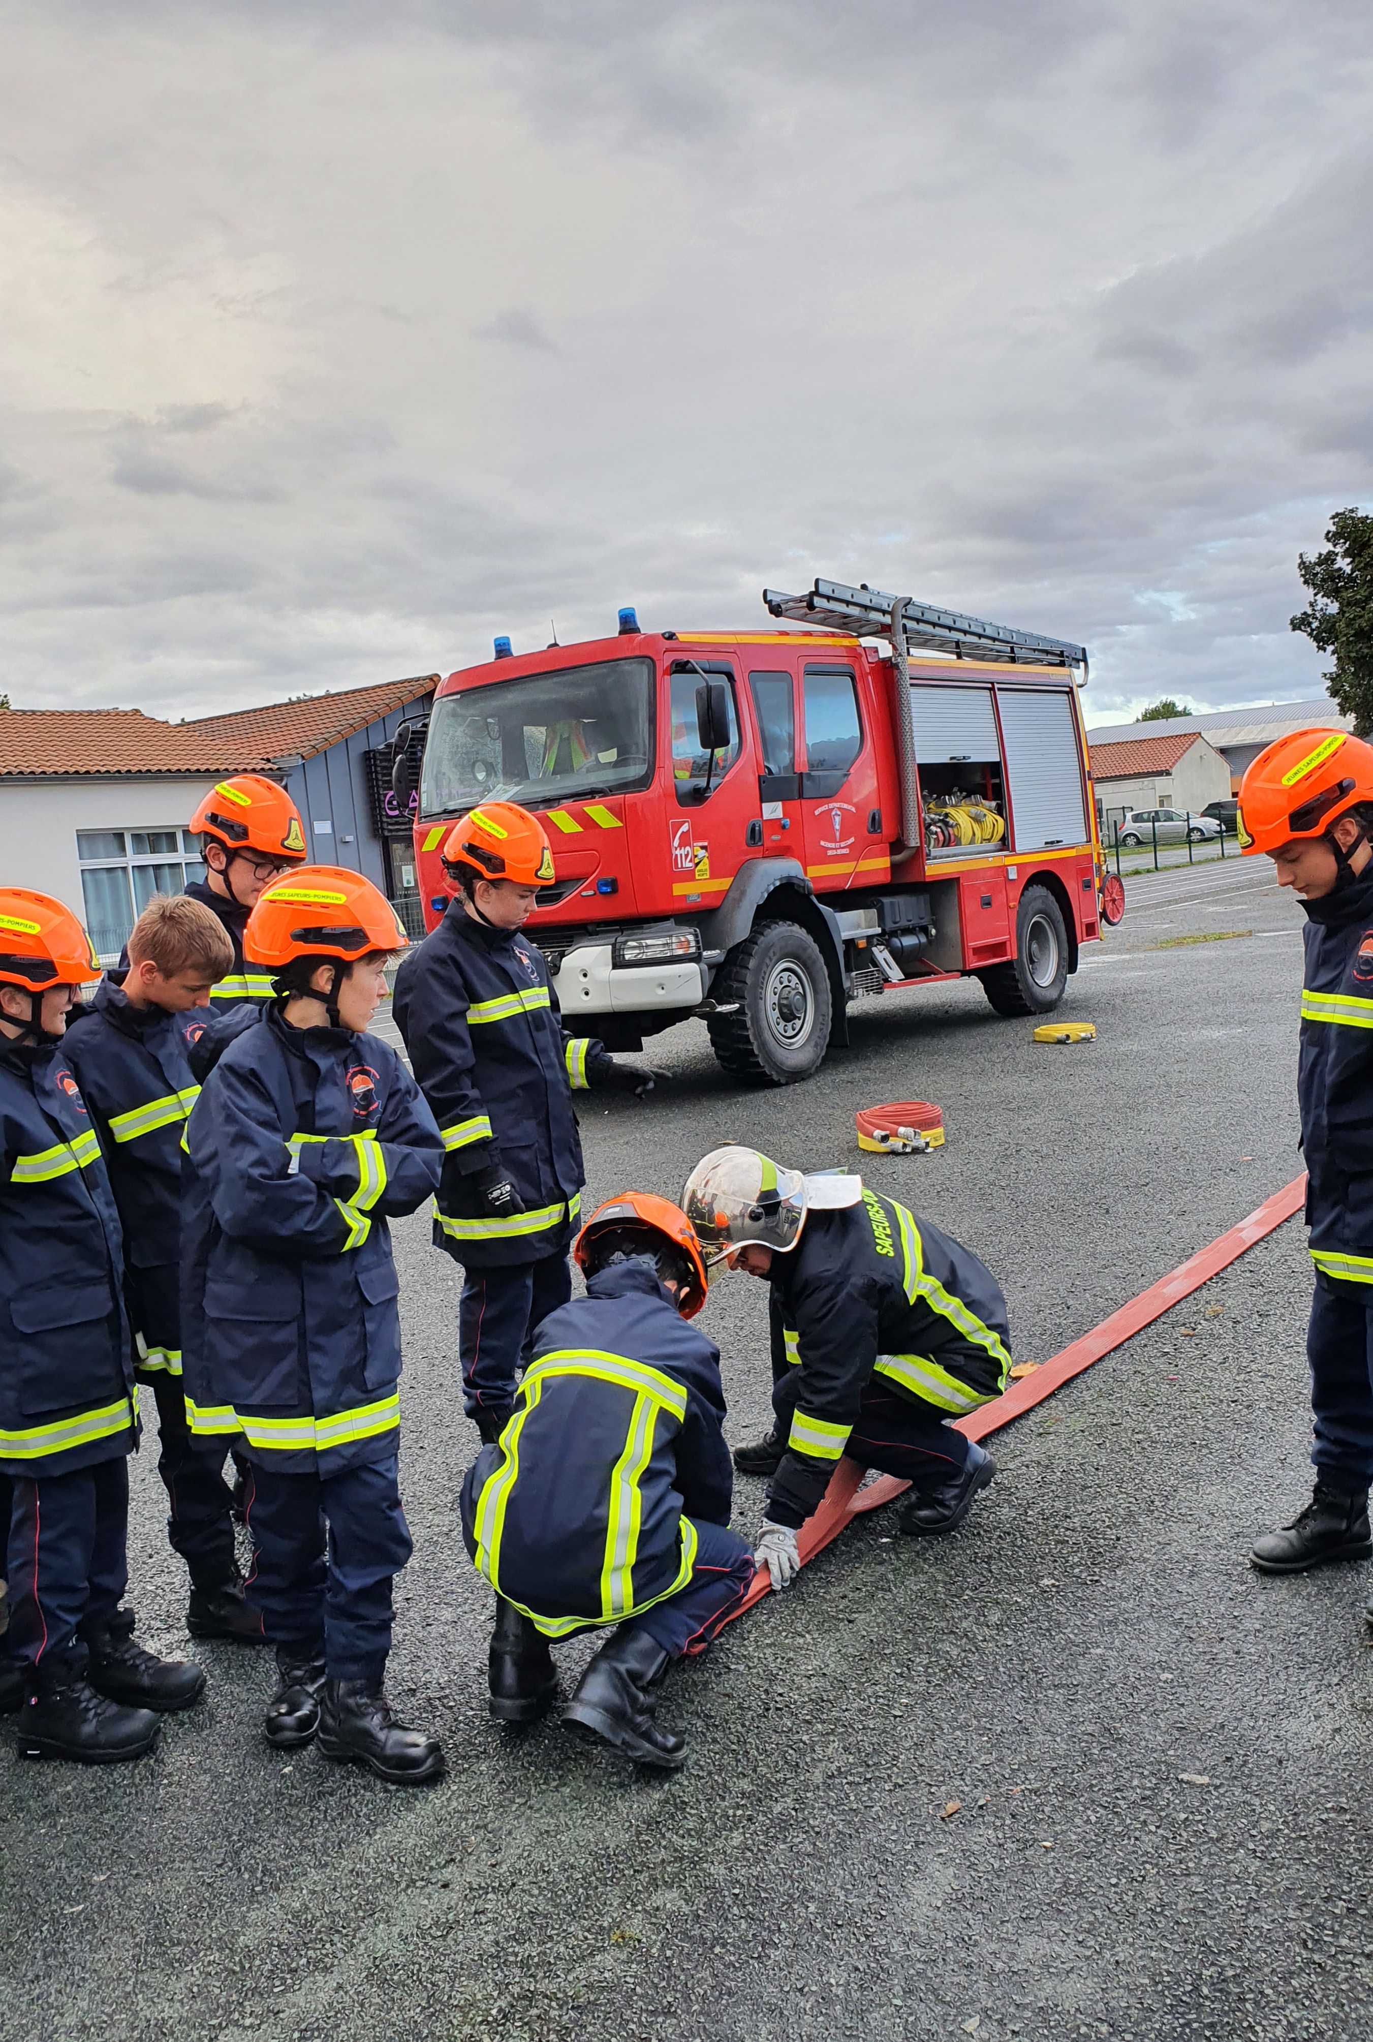
<path id="1" fill-rule="evenodd" d="M 186 1127 L 186 1415 L 284 1474 L 388 1460 L 400 1319 L 386 1215 L 439 1182 L 443 1146 L 376 1035 L 292 1029 L 278 1007 L 204 1076 Z"/>

